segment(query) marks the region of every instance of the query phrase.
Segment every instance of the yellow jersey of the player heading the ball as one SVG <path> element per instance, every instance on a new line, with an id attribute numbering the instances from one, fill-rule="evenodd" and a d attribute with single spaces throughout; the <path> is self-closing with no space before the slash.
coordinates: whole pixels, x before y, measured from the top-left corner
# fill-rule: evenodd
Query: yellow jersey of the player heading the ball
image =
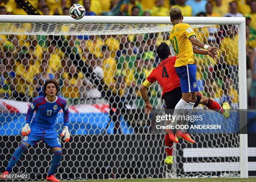
<path id="1" fill-rule="evenodd" d="M 193 47 L 189 40 L 192 36 L 195 36 L 195 32 L 189 24 L 177 23 L 173 25 L 170 32 L 170 41 L 177 56 L 174 67 L 195 64 Z"/>

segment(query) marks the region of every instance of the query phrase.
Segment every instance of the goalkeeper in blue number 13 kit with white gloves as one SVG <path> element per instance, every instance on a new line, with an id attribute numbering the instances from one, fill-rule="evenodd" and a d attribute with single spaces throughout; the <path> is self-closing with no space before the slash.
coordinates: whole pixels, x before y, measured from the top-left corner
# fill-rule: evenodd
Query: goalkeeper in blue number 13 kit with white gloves
<path id="1" fill-rule="evenodd" d="M 68 130 L 69 110 L 67 108 L 66 99 L 57 96 L 59 91 L 58 83 L 55 80 L 47 80 L 44 84 L 44 96 L 36 97 L 28 108 L 26 115 L 26 124 L 21 130 L 23 135 L 20 146 L 15 150 L 11 157 L 6 171 L 0 175 L 0 179 L 6 179 L 20 159 L 21 154 L 28 148 L 29 145 L 43 141 L 53 149 L 54 156 L 52 158 L 51 167 L 48 171 L 47 181 L 59 182 L 59 179 L 54 177 L 57 168 L 61 161 L 61 142 L 57 132 L 54 129 L 58 112 L 62 109 L 64 113 L 64 126 L 61 136 L 64 136 L 64 141 L 69 142 L 70 134 Z M 33 112 L 36 115 L 31 119 Z M 30 126 L 31 123 L 31 126 Z"/>

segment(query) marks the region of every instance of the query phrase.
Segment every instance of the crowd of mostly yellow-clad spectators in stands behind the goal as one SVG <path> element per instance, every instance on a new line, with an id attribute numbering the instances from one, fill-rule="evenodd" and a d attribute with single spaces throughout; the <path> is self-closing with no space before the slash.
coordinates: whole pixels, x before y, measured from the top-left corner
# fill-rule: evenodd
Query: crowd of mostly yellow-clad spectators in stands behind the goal
<path id="1" fill-rule="evenodd" d="M 169 16 L 178 7 L 184 16 L 246 17 L 246 63 L 248 104 L 256 107 L 256 0 L 29 0 L 41 15 L 69 15 L 69 7 L 80 3 L 86 15 Z M 0 14 L 26 15 L 15 0 L 0 0 Z M 202 94 L 219 103 L 238 104 L 238 28 L 214 25 L 194 28 L 197 38 L 217 46 L 218 61 L 195 55 L 197 79 Z M 58 79 L 69 104 L 82 98 L 100 97 L 100 92 L 56 45 L 52 36 L 0 35 L 0 98 L 29 101 L 43 94 L 48 78 Z M 143 106 L 138 88 L 159 63 L 156 46 L 169 43 L 168 33 L 136 35 L 66 36 L 69 46 L 94 68 L 108 87 L 131 105 Z M 151 88 L 153 106 L 162 106 L 160 88 Z M 134 99 L 135 98 L 135 99 Z"/>

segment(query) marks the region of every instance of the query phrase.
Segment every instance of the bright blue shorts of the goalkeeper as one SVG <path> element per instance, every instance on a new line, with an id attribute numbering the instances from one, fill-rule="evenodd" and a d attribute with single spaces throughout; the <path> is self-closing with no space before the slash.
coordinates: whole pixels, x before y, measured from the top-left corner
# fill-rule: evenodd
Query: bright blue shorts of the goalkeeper
<path id="1" fill-rule="evenodd" d="M 22 138 L 22 142 L 30 145 L 37 144 L 41 140 L 51 148 L 61 147 L 61 142 L 55 129 L 46 130 L 31 127 L 31 133 Z"/>

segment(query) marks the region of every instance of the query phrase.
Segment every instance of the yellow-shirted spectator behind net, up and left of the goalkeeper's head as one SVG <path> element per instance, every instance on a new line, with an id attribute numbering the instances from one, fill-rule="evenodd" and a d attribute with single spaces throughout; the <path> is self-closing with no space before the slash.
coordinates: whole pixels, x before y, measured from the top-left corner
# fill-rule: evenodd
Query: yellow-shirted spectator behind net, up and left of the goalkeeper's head
<path id="1" fill-rule="evenodd" d="M 27 101 L 27 96 L 31 96 L 34 91 L 34 72 L 29 64 L 30 60 L 31 55 L 29 53 L 19 53 L 18 61 L 16 62 L 16 77 L 14 79 L 15 92 L 13 93 L 18 101 Z"/>

